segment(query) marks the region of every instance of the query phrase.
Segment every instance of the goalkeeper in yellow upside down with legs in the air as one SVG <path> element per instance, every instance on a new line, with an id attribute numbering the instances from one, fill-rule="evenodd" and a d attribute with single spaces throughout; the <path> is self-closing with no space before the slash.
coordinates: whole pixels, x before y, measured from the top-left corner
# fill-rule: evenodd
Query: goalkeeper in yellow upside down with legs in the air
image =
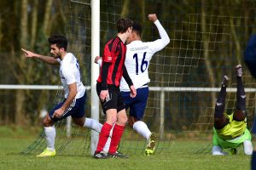
<path id="1" fill-rule="evenodd" d="M 251 133 L 247 129 L 246 94 L 241 80 L 241 65 L 236 65 L 236 110 L 228 115 L 224 113 L 226 87 L 229 78 L 224 76 L 221 90 L 214 111 L 214 127 L 212 139 L 212 155 L 227 155 L 224 149 L 230 149 L 231 154 L 236 154 L 236 148 L 241 144 L 245 155 L 252 155 L 253 145 Z"/>

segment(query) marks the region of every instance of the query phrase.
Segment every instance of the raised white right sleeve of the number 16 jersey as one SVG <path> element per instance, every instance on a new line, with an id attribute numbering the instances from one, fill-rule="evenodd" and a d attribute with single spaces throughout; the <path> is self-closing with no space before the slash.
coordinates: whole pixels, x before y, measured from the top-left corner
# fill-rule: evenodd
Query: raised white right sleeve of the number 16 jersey
<path id="1" fill-rule="evenodd" d="M 170 38 L 164 27 L 160 24 L 159 20 L 154 21 L 154 24 L 159 31 L 160 39 L 151 42 L 150 48 L 153 52 L 157 52 L 166 47 L 166 45 L 170 42 Z"/>

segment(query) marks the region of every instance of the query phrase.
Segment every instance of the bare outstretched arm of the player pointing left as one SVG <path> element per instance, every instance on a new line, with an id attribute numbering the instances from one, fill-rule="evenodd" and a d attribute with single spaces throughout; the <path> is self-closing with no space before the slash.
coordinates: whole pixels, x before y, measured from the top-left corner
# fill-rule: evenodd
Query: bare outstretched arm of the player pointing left
<path id="1" fill-rule="evenodd" d="M 35 54 L 35 53 L 32 53 L 31 51 L 28 51 L 28 50 L 23 49 L 23 48 L 21 48 L 21 50 L 26 55 L 26 58 L 40 59 L 40 60 L 44 61 L 45 63 L 48 63 L 49 65 L 60 65 L 58 60 L 53 58 L 53 57 L 44 56 L 44 55 L 41 55 L 41 54 Z"/>

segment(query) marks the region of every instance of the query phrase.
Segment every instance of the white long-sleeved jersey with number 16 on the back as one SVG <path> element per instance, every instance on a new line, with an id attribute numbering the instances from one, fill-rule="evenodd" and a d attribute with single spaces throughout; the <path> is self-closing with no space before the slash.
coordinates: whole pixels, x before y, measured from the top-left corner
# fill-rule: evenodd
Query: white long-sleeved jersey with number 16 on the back
<path id="1" fill-rule="evenodd" d="M 160 39 L 154 42 L 132 41 L 126 46 L 125 67 L 136 89 L 150 82 L 148 77 L 150 59 L 170 42 L 170 38 L 163 26 L 161 26 L 160 21 L 156 20 L 154 24 L 160 33 Z M 124 77 L 122 77 L 120 82 L 120 90 L 123 92 L 130 91 Z"/>

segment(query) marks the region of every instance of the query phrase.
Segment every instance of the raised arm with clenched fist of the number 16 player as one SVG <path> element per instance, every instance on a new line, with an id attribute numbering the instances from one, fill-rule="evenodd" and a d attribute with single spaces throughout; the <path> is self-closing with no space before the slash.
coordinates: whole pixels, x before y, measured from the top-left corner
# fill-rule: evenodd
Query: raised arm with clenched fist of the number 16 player
<path id="1" fill-rule="evenodd" d="M 148 14 L 148 20 L 151 20 L 154 22 L 155 26 L 157 27 L 159 34 L 160 34 L 160 39 L 154 41 L 156 44 L 159 44 L 157 47 L 157 51 L 160 51 L 162 48 L 165 48 L 166 45 L 170 42 L 170 38 L 164 29 L 164 27 L 160 24 L 160 21 L 157 19 L 156 14 Z"/>

